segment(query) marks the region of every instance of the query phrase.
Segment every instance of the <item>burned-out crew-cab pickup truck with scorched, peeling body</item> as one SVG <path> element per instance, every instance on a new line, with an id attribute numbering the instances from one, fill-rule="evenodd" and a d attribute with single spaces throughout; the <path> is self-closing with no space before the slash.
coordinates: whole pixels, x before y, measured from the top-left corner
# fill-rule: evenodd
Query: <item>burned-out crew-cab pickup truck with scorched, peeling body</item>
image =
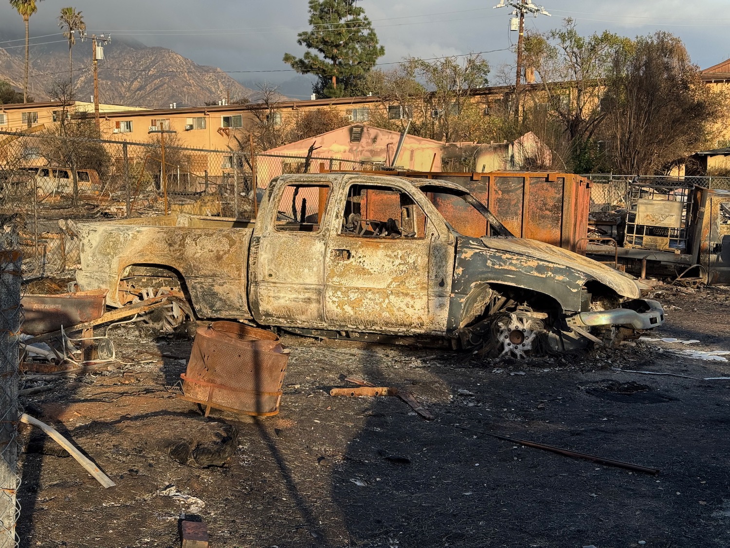
<path id="1" fill-rule="evenodd" d="M 255 221 L 158 216 L 79 232 L 78 285 L 108 289 L 115 307 L 166 288 L 199 319 L 485 344 L 518 357 L 539 343 L 575 348 L 664 323 L 631 276 L 513 237 L 464 187 L 442 180 L 282 175 Z"/>

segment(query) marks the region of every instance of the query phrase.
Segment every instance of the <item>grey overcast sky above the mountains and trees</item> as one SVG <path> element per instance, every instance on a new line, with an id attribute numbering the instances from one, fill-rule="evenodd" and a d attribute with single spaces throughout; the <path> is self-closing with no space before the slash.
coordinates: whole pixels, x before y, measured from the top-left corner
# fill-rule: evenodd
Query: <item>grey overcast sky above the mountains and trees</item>
<path id="1" fill-rule="evenodd" d="M 509 31 L 510 8 L 492 9 L 497 1 L 360 0 L 358 4 L 366 9 L 385 46 L 381 63 L 403 56 L 496 50 L 484 56 L 493 67 L 492 83 L 498 83 L 496 69 L 512 60 L 504 49 L 517 33 Z M 543 4 L 552 17 L 529 17 L 526 28 L 546 31 L 572 17 L 585 34 L 607 28 L 635 37 L 666 30 L 683 39 L 692 60 L 702 68 L 730 58 L 726 0 L 545 0 Z M 33 42 L 63 39 L 43 35 L 58 33 L 56 18 L 67 5 L 69 0 L 39 2 L 31 18 Z M 75 0 L 73 5 L 82 10 L 90 33 L 111 32 L 112 39 L 134 38 L 169 47 L 249 82 L 278 83 L 293 77 L 293 72 L 255 71 L 288 69 L 282 56 L 301 52 L 296 34 L 307 28 L 307 0 Z M 0 32 L 4 39 L 8 33 L 23 36 L 22 18 L 4 0 L 0 0 Z M 18 45 L 22 42 L 0 43 L 0 47 Z"/>

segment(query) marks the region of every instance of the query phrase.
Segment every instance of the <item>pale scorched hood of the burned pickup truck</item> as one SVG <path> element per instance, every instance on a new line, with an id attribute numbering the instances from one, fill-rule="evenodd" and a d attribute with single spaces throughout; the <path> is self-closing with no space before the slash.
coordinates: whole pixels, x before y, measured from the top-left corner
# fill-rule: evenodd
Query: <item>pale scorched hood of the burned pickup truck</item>
<path id="1" fill-rule="evenodd" d="M 557 265 L 578 270 L 587 275 L 588 279 L 599 281 L 610 287 L 621 297 L 628 297 L 629 299 L 641 297 L 639 286 L 637 286 L 633 276 L 614 270 L 567 249 L 525 238 L 481 238 L 481 240 L 485 246 L 491 249 L 531 257 L 540 261 L 553 262 Z"/>

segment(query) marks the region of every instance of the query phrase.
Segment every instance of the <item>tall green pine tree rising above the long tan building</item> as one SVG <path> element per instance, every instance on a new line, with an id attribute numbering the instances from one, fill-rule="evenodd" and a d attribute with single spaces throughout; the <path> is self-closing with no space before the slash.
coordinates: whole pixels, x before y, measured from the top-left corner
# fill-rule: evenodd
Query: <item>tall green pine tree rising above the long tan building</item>
<path id="1" fill-rule="evenodd" d="M 312 91 L 318 96 L 347 96 L 348 88 L 385 55 L 385 48 L 378 45 L 357 0 L 310 0 L 309 22 L 312 30 L 300 32 L 296 43 L 314 51 L 304 52 L 301 58 L 286 53 L 284 62 L 301 74 L 317 75 Z"/>

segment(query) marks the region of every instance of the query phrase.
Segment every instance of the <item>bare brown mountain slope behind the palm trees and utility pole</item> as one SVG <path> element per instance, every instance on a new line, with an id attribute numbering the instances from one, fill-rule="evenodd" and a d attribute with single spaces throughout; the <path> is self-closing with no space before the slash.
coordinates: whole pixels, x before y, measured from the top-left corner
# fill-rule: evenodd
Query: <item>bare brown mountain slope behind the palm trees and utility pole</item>
<path id="1" fill-rule="evenodd" d="M 76 98 L 88 101 L 93 95 L 91 43 L 74 46 L 74 90 Z M 195 106 L 218 101 L 255 99 L 245 88 L 215 66 L 202 66 L 164 47 L 147 47 L 139 42 L 115 39 L 104 47 L 99 61 L 99 100 L 102 103 L 140 107 Z M 31 47 L 31 95 L 36 101 L 50 99 L 47 90 L 55 80 L 69 77 L 69 50 L 61 43 Z M 23 48 L 0 48 L 0 80 L 23 85 Z"/>

